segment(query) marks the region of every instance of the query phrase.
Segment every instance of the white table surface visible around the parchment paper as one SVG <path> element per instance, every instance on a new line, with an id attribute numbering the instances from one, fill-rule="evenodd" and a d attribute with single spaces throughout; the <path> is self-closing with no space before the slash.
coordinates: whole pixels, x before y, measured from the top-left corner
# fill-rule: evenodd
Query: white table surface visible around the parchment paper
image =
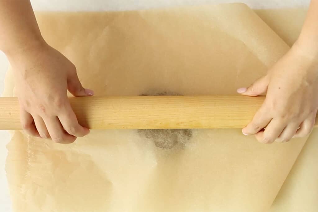
<path id="1" fill-rule="evenodd" d="M 230 3 L 231 0 L 31 0 L 34 10 L 49 11 L 101 11 L 101 10 L 135 10 L 177 5 L 195 5 L 209 3 Z M 273 9 L 307 6 L 309 0 L 242 0 L 253 9 Z M 3 92 L 3 80 L 8 62 L 0 51 L 0 93 Z M 5 176 L 4 165 L 7 156 L 5 145 L 9 142 L 9 133 L 0 131 L 0 211 L 11 212 L 8 182 Z"/>

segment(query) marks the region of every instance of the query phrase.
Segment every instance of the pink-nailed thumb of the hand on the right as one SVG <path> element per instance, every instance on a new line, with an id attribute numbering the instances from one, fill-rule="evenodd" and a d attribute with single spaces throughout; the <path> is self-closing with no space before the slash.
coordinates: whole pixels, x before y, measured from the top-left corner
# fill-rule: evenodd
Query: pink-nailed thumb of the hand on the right
<path id="1" fill-rule="evenodd" d="M 258 96 L 267 91 L 268 83 L 269 77 L 268 75 L 265 75 L 264 77 L 261 77 L 258 80 L 256 80 L 248 88 L 237 89 L 237 92 L 246 96 Z"/>

